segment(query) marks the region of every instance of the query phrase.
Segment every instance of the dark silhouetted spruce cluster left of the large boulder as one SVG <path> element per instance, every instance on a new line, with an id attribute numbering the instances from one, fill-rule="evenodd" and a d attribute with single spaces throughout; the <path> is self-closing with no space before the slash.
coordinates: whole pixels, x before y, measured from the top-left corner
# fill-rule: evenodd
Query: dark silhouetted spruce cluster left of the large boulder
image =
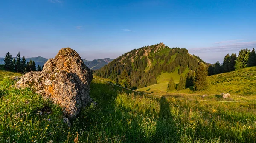
<path id="1" fill-rule="evenodd" d="M 30 71 L 41 71 L 42 68 L 40 65 L 36 67 L 35 61 L 30 59 L 29 62 L 26 62 L 25 57 L 21 58 L 20 52 L 17 53 L 16 58 L 12 57 L 10 52 L 6 53 L 4 59 L 4 68 L 7 71 L 18 72 L 18 73 L 27 73 Z"/>

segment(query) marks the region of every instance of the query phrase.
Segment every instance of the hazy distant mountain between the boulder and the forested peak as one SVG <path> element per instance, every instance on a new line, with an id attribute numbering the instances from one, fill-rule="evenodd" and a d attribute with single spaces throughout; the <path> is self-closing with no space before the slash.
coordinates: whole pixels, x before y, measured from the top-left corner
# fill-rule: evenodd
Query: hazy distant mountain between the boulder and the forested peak
<path id="1" fill-rule="evenodd" d="M 113 61 L 113 59 L 105 58 L 105 59 L 95 59 L 92 61 L 87 61 L 83 59 L 84 64 L 89 67 L 91 70 L 97 70 L 108 64 L 109 62 Z"/>

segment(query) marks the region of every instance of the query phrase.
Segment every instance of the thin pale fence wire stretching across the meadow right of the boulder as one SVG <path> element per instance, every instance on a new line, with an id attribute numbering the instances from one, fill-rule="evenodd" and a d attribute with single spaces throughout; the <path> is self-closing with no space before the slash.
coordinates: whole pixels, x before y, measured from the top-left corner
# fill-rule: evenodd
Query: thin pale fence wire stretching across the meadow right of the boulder
<path id="1" fill-rule="evenodd" d="M 126 89 L 126 90 L 131 90 L 131 89 L 128 89 L 128 88 L 126 88 L 126 87 L 122 87 L 122 86 L 120 86 L 120 85 L 113 84 L 113 83 L 108 82 L 108 81 L 104 81 L 104 80 L 102 80 L 102 79 L 98 79 L 98 78 L 95 78 L 95 77 L 93 77 L 93 79 L 97 79 L 97 80 L 99 80 L 99 81 L 103 81 L 103 82 L 106 82 L 106 83 L 108 83 L 108 84 L 112 84 L 112 85 L 115 85 L 115 86 L 117 86 L 117 87 L 124 88 L 124 89 Z M 208 102 L 208 101 L 209 101 L 209 102 L 232 102 L 232 103 L 256 103 L 256 102 L 254 102 L 254 101 L 247 102 L 247 101 L 215 101 L 215 100 L 201 100 L 201 99 L 178 99 L 178 98 L 159 96 L 159 95 L 154 95 L 154 94 L 149 94 L 149 93 L 143 93 L 143 92 L 139 92 L 139 91 L 136 91 L 136 90 L 131 90 L 131 91 L 133 91 L 133 92 L 135 92 L 135 93 L 140 93 L 140 94 L 145 94 L 145 95 L 151 95 L 151 96 L 156 96 L 156 97 L 160 97 L 160 98 L 177 99 L 177 100 L 207 101 L 207 102 Z"/>

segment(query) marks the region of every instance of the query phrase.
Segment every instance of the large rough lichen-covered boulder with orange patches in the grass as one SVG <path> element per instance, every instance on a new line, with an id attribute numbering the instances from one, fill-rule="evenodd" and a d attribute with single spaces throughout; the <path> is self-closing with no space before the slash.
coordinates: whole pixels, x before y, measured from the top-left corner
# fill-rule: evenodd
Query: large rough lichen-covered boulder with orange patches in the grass
<path id="1" fill-rule="evenodd" d="M 15 86 L 32 88 L 58 104 L 68 118 L 74 118 L 82 107 L 94 103 L 89 96 L 92 79 L 90 69 L 79 54 L 71 48 L 63 48 L 44 64 L 41 72 L 26 73 Z"/>

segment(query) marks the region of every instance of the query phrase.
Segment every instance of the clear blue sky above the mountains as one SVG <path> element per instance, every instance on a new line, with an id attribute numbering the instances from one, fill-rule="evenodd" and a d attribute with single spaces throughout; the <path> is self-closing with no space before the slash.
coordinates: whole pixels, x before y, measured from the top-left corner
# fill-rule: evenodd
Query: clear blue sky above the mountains
<path id="1" fill-rule="evenodd" d="M 163 42 L 206 62 L 256 48 L 256 0 L 1 0 L 0 57 L 87 60 Z"/>

